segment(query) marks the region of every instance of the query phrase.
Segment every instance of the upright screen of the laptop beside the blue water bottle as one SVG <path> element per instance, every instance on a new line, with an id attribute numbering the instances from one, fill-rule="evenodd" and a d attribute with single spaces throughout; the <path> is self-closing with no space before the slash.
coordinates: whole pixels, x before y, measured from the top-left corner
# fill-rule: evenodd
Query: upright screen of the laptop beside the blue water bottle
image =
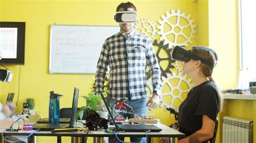
<path id="1" fill-rule="evenodd" d="M 73 95 L 73 102 L 72 102 L 72 110 L 71 110 L 71 117 L 70 117 L 70 125 L 69 127 L 72 128 L 75 124 L 75 118 L 76 118 L 76 112 L 77 112 L 77 103 L 78 103 L 78 95 L 79 95 L 79 89 L 74 89 L 74 95 Z"/>

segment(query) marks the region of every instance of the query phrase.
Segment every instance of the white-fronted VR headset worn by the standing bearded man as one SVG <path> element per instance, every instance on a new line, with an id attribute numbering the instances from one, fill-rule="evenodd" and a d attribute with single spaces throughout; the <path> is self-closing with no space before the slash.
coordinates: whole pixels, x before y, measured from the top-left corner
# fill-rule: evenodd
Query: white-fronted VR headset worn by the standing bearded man
<path id="1" fill-rule="evenodd" d="M 117 23 L 135 23 L 137 22 L 138 15 L 136 11 L 128 11 L 127 3 L 123 3 L 124 11 L 117 11 L 114 15 L 114 20 Z"/>

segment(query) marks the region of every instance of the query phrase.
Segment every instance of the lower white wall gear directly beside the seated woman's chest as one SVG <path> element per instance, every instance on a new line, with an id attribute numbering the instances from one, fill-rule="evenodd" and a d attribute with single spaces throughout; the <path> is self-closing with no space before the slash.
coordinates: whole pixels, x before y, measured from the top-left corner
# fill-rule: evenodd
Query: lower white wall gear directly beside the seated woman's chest
<path id="1" fill-rule="evenodd" d="M 173 87 L 172 84 L 170 83 L 171 80 L 174 80 L 174 79 L 177 79 L 179 80 L 178 84 L 176 87 Z M 173 106 L 173 102 L 178 98 L 181 102 L 184 101 L 183 98 L 181 98 L 181 94 L 183 92 L 188 92 L 190 91 L 190 89 L 194 86 L 194 84 L 191 83 L 191 78 L 190 79 L 187 79 L 187 75 L 185 74 L 184 76 L 182 76 L 182 73 L 179 73 L 178 75 L 173 72 L 172 75 L 171 74 L 167 74 L 167 77 L 164 77 L 164 76 L 161 76 L 161 79 L 163 80 L 162 84 L 163 86 L 165 84 L 167 84 L 169 87 L 170 87 L 170 91 L 169 92 L 162 92 L 161 95 L 160 95 L 160 107 L 163 107 L 165 106 L 165 111 L 166 111 L 166 108 L 172 108 L 174 110 L 177 110 L 177 107 L 176 106 Z M 188 89 L 186 90 L 182 90 L 180 89 L 180 85 L 182 82 L 185 82 L 188 86 Z M 149 87 L 149 89 L 151 90 L 151 93 L 153 91 L 153 87 L 152 87 L 152 80 L 147 80 L 147 87 Z M 173 94 L 173 91 L 174 90 L 178 90 L 179 91 L 179 94 L 178 95 L 174 95 Z M 152 97 L 152 95 L 149 95 L 150 97 Z M 172 96 L 172 101 L 171 103 L 166 103 L 164 97 L 165 96 Z"/>

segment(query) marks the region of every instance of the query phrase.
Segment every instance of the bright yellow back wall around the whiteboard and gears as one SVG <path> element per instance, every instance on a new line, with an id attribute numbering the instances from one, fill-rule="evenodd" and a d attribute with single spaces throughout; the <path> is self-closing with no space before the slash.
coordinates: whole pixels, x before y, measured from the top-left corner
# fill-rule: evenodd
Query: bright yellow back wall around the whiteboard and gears
<path id="1" fill-rule="evenodd" d="M 63 94 L 60 99 L 60 108 L 70 107 L 73 88 L 80 89 L 79 95 L 86 95 L 91 91 L 94 75 L 82 74 L 49 74 L 49 39 L 51 24 L 70 25 L 117 25 L 113 20 L 116 6 L 120 1 L 0 1 L 0 17 L 2 21 L 26 22 L 25 36 L 25 65 L 6 66 L 14 78 L 10 83 L 0 83 L 1 101 L 4 101 L 8 92 L 15 92 L 14 101 L 17 100 L 19 89 L 19 101 L 17 111 L 22 109 L 22 103 L 27 97 L 35 98 L 35 110 L 42 117 L 48 117 L 49 92 L 54 90 Z M 194 24 L 198 24 L 200 30 L 193 39 L 194 45 L 208 45 L 207 2 L 199 0 L 182 1 L 131 1 L 137 6 L 140 18 L 151 19 L 156 26 L 161 15 L 171 12 L 171 9 L 191 14 Z M 1 7 L 2 6 L 2 7 Z M 104 13 L 104 16 L 103 16 Z M 200 18 L 200 20 L 198 20 Z M 199 29 L 199 28 L 197 28 Z M 159 40 L 159 35 L 155 39 Z M 198 41 L 200 39 L 200 41 Z M 96 65 L 95 65 L 96 66 Z M 21 69 L 21 70 L 20 70 Z M 20 83 L 19 72 L 21 72 Z M 19 86 L 18 86 L 19 85 Z M 78 106 L 85 104 L 79 98 Z M 164 124 L 170 125 L 174 117 L 170 117 L 164 108 L 150 111 L 154 113 Z M 52 140 L 52 139 L 49 139 Z M 38 141 L 42 141 L 40 138 Z"/>

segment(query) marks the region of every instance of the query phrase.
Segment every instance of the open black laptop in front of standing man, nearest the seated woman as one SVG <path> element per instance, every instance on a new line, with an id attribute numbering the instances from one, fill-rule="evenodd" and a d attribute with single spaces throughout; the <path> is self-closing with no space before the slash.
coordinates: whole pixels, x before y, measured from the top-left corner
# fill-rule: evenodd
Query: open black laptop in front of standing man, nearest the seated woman
<path id="1" fill-rule="evenodd" d="M 102 93 L 100 93 L 100 96 L 102 96 L 103 102 L 106 106 L 107 112 L 109 112 L 111 119 L 113 120 L 113 124 L 116 127 L 117 131 L 124 131 L 124 132 L 160 132 L 162 131 L 161 128 L 155 126 L 155 125 L 138 125 L 138 124 L 117 124 L 116 121 L 114 121 L 113 115 L 109 109 L 109 106 L 106 103 L 106 100 Z"/>

